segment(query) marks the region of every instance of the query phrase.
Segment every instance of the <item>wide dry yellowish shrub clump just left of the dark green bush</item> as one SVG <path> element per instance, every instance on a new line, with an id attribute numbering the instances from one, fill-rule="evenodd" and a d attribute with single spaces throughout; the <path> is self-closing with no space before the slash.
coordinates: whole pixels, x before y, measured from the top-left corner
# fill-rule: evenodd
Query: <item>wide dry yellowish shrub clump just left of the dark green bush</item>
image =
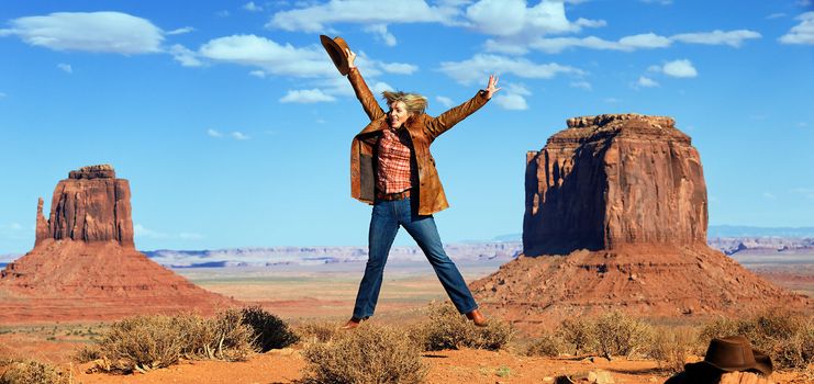
<path id="1" fill-rule="evenodd" d="M 102 335 L 98 352 L 91 347 L 79 354 L 98 353 L 97 369 L 125 373 L 169 366 L 181 357 L 241 361 L 255 351 L 254 332 L 242 318 L 237 309 L 212 318 L 191 314 L 131 317 Z"/>

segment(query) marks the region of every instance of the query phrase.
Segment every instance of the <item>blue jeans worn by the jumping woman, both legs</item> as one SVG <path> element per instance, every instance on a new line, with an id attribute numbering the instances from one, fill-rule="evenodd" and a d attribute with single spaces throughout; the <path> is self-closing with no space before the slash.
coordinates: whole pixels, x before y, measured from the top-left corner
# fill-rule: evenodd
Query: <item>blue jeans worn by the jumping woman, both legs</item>
<path id="1" fill-rule="evenodd" d="M 395 239 L 399 226 L 403 226 L 419 244 L 419 248 L 424 251 L 458 312 L 465 314 L 478 308 L 464 276 L 444 252 L 435 219 L 432 215 L 419 216 L 416 212 L 412 208 L 409 197 L 397 201 L 376 201 L 368 233 L 368 261 L 365 276 L 359 283 L 359 293 L 356 295 L 354 318 L 363 319 L 372 316 L 376 310 L 384 263 L 387 263 L 390 246 Z"/>

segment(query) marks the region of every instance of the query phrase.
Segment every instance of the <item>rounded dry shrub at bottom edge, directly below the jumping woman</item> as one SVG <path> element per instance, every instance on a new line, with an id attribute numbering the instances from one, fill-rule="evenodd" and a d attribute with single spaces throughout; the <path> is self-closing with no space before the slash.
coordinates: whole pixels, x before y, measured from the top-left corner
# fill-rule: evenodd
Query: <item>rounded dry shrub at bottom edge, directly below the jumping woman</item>
<path id="1" fill-rule="evenodd" d="M 303 350 L 305 383 L 421 383 L 427 366 L 421 349 L 401 330 L 364 324 L 347 336 Z"/>

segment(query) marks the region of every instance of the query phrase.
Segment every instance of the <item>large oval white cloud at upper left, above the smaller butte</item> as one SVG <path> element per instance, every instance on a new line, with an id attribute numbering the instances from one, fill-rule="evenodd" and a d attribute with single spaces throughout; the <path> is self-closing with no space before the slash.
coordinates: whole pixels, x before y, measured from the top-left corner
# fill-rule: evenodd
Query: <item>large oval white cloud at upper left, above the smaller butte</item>
<path id="1" fill-rule="evenodd" d="M 161 30 L 148 20 L 121 12 L 56 12 L 14 19 L 3 35 L 54 50 L 122 55 L 160 52 Z"/>

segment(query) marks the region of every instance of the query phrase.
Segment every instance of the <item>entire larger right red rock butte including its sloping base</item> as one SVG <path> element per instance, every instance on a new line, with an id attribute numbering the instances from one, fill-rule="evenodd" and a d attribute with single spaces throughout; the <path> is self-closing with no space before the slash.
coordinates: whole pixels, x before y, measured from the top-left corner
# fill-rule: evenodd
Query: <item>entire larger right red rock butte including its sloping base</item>
<path id="1" fill-rule="evenodd" d="M 810 310 L 706 245 L 698 150 L 670 117 L 568 120 L 526 156 L 524 255 L 471 289 L 520 326 L 622 309 L 651 317 Z"/>

